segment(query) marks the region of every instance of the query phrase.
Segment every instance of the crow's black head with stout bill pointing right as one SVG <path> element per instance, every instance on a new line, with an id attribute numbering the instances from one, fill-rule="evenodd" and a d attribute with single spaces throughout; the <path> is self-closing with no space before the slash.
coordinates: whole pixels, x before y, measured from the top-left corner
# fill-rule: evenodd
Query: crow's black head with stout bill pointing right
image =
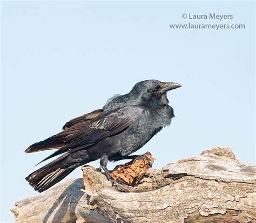
<path id="1" fill-rule="evenodd" d="M 130 93 L 136 95 L 141 103 L 157 107 L 168 104 L 166 92 L 178 87 L 181 87 L 179 83 L 145 80 L 136 83 Z"/>

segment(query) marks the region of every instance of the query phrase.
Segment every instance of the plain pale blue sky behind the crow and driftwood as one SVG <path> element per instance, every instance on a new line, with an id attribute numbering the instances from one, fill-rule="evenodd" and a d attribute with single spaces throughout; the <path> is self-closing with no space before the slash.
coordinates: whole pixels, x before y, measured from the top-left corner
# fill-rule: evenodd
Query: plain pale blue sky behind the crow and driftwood
<path id="1" fill-rule="evenodd" d="M 246 29 L 169 28 L 210 12 Z M 169 93 L 171 127 L 139 150 L 154 168 L 214 146 L 254 163 L 254 15 L 254 2 L 2 2 L 2 221 L 37 194 L 24 178 L 51 152 L 28 145 L 145 79 L 183 85 Z"/>

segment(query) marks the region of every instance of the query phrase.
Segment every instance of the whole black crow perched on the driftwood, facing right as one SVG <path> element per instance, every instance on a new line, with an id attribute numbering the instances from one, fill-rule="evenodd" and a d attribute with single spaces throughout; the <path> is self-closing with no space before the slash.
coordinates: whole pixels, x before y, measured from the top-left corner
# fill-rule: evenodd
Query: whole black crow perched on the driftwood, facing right
<path id="1" fill-rule="evenodd" d="M 110 179 L 108 161 L 136 157 L 129 155 L 171 123 L 174 114 L 166 92 L 178 87 L 181 87 L 179 83 L 158 80 L 138 82 L 130 93 L 114 95 L 102 109 L 67 122 L 63 131 L 25 150 L 29 153 L 58 149 L 43 161 L 64 154 L 25 179 L 42 192 L 78 166 L 97 159 Z"/>

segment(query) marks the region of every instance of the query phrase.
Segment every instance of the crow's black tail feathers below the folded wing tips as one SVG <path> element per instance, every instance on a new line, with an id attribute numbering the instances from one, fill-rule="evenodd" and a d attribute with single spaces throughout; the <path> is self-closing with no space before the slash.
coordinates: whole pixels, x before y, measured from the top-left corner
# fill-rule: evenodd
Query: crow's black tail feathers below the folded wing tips
<path id="1" fill-rule="evenodd" d="M 84 161 L 83 163 L 73 163 L 69 160 L 70 154 L 65 154 L 55 159 L 51 163 L 43 166 L 42 168 L 30 173 L 25 179 L 29 184 L 38 192 L 43 192 L 51 186 L 58 183 L 64 177 L 68 176 L 78 166 L 89 163 L 91 160 Z"/>

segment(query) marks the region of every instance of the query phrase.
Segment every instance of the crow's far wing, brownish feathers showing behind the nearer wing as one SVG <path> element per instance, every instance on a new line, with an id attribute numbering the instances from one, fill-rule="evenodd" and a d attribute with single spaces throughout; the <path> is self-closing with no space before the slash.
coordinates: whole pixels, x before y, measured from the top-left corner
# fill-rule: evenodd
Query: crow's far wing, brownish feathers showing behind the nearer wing
<path id="1" fill-rule="evenodd" d="M 29 153 L 61 148 L 64 146 L 65 141 L 69 137 L 72 137 L 73 135 L 77 134 L 83 127 L 99 119 L 99 116 L 102 114 L 103 110 L 99 109 L 91 113 L 76 117 L 64 125 L 63 131 L 54 136 L 46 138 L 44 141 L 30 145 L 30 147 L 28 147 L 25 152 Z"/>

